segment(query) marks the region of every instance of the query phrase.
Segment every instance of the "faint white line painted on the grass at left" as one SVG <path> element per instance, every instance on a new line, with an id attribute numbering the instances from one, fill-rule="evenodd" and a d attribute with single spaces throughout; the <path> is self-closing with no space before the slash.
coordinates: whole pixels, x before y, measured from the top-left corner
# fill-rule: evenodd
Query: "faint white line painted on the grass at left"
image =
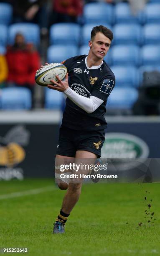
<path id="1" fill-rule="evenodd" d="M 36 194 L 51 191 L 54 189 L 55 189 L 55 187 L 50 186 L 50 187 L 42 187 L 42 188 L 38 188 L 38 189 L 30 189 L 30 190 L 21 191 L 21 192 L 14 192 L 14 193 L 10 193 L 10 194 L 0 195 L 0 200 L 14 198 L 14 197 L 23 197 L 26 195 L 36 195 Z"/>

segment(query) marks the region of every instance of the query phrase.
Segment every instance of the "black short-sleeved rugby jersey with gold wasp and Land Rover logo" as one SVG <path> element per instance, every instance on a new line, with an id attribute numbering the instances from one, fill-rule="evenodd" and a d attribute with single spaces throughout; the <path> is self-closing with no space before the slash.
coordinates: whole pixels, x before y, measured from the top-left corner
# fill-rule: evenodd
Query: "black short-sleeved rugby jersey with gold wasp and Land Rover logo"
<path id="1" fill-rule="evenodd" d="M 88 69 L 85 63 L 86 56 L 75 56 L 62 62 L 69 73 L 69 87 L 79 95 L 92 95 L 104 102 L 93 113 L 86 113 L 67 97 L 62 126 L 84 131 L 102 130 L 107 127 L 104 118 L 106 102 L 114 88 L 115 77 L 105 61 L 98 69 Z"/>

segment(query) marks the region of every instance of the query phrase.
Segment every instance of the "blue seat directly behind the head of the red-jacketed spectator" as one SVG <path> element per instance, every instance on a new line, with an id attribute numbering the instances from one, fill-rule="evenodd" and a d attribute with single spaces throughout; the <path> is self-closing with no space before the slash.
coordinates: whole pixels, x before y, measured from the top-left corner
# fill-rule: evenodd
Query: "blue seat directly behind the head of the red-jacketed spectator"
<path id="1" fill-rule="evenodd" d="M 15 23 L 9 27 L 9 44 L 14 43 L 16 33 L 22 33 L 26 42 L 35 46 L 40 44 L 40 28 L 33 23 Z"/>

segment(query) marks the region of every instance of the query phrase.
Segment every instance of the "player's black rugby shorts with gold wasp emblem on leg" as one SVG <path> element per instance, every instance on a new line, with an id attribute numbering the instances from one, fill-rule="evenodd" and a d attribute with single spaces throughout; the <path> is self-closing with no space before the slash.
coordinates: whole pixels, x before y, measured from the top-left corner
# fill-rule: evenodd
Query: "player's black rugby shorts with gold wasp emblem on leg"
<path id="1" fill-rule="evenodd" d="M 56 154 L 75 157 L 77 150 L 85 150 L 101 157 L 101 148 L 104 143 L 104 130 L 78 131 L 61 127 Z"/>

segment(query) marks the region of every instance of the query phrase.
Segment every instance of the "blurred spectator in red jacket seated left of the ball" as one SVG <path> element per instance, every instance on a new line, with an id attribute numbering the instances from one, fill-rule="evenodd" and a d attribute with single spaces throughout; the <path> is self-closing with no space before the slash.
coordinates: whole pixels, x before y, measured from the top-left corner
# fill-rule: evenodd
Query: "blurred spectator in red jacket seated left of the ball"
<path id="1" fill-rule="evenodd" d="M 23 86 L 30 89 L 32 96 L 35 73 L 40 67 L 40 56 L 33 44 L 26 44 L 22 34 L 17 33 L 15 43 L 6 53 L 8 63 L 8 86 Z"/>

